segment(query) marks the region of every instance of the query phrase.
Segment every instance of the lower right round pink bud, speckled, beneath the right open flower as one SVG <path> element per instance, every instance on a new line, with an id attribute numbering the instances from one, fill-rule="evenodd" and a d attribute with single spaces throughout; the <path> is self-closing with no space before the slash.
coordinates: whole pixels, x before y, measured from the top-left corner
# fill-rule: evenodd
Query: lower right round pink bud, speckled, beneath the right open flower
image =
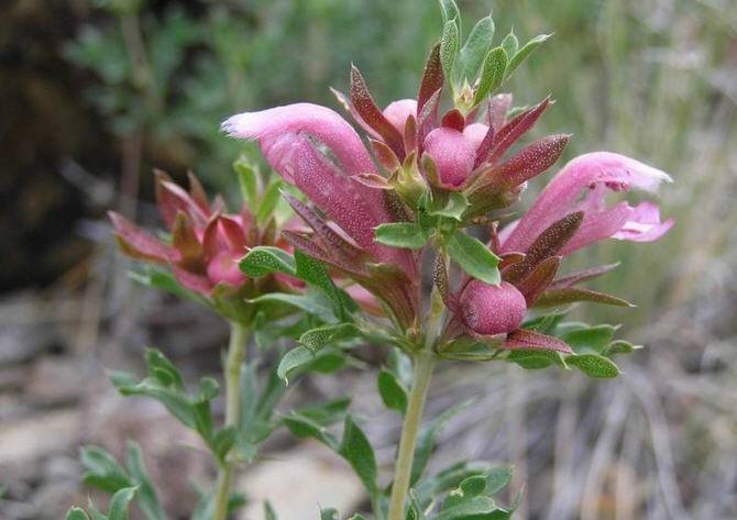
<path id="1" fill-rule="evenodd" d="M 512 332 L 521 325 L 527 306 L 515 286 L 471 281 L 461 295 L 463 321 L 477 334 L 493 335 Z"/>

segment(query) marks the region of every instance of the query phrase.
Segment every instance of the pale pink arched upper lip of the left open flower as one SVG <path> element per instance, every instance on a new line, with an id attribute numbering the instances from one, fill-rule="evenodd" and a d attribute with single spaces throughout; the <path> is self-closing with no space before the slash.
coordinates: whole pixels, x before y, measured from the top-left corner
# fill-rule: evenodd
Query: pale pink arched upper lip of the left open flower
<path id="1" fill-rule="evenodd" d="M 375 173 L 375 168 L 355 130 L 332 110 L 311 103 L 295 103 L 260 112 L 243 112 L 222 123 L 233 137 L 256 139 L 266 161 L 292 181 L 283 165 L 299 134 L 317 137 L 336 155 L 349 174 Z"/>

